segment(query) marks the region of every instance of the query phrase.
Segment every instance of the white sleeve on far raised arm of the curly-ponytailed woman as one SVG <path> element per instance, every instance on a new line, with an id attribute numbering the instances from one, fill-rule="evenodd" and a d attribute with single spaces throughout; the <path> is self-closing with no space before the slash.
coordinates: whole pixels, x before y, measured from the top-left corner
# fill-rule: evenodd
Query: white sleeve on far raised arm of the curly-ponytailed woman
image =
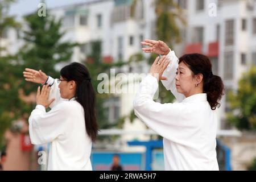
<path id="1" fill-rule="evenodd" d="M 162 84 L 167 90 L 171 90 L 172 94 L 174 94 L 174 97 L 178 102 L 181 102 L 182 100 L 184 100 L 185 96 L 177 92 L 176 85 L 175 85 L 176 84 L 175 76 L 176 76 L 177 68 L 179 66 L 178 64 L 179 59 L 177 59 L 174 51 L 170 51 L 167 57 L 169 57 L 171 62 L 167 66 L 166 70 L 163 72 L 162 76 L 167 77 L 168 80 L 162 80 Z"/>

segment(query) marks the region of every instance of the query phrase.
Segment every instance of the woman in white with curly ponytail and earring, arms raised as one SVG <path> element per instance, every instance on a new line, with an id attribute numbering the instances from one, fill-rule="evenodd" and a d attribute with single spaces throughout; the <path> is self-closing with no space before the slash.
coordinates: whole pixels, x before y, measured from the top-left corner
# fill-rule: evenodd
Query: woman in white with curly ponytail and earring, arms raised
<path id="1" fill-rule="evenodd" d="M 224 85 L 212 73 L 207 56 L 188 54 L 177 59 L 162 41 L 144 40 L 144 52 L 160 56 L 141 82 L 134 100 L 135 114 L 161 135 L 166 170 L 218 170 L 216 156 L 216 114 Z M 153 101 L 162 80 L 178 102 Z"/>

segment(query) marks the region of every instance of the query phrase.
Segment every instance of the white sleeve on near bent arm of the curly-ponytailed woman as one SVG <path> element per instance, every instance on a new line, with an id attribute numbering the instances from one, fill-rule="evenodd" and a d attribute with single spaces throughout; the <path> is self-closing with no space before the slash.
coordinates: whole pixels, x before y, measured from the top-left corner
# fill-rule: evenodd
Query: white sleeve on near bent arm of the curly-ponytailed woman
<path id="1" fill-rule="evenodd" d="M 160 104 L 152 98 L 158 89 L 155 77 L 146 76 L 139 86 L 133 102 L 135 115 L 159 135 L 174 142 L 184 143 L 197 123 L 188 122 L 184 114 L 188 112 L 185 103 Z M 181 132 L 186 130 L 186 132 Z"/>

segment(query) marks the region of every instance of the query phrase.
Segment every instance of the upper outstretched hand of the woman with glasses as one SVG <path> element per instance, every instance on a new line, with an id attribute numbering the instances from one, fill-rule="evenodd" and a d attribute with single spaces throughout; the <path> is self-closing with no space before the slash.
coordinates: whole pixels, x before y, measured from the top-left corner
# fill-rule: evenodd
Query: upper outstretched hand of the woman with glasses
<path id="1" fill-rule="evenodd" d="M 26 81 L 34 82 L 37 84 L 44 84 L 48 78 L 46 73 L 42 71 L 36 71 L 35 69 L 26 68 L 23 72 L 23 76 Z"/>

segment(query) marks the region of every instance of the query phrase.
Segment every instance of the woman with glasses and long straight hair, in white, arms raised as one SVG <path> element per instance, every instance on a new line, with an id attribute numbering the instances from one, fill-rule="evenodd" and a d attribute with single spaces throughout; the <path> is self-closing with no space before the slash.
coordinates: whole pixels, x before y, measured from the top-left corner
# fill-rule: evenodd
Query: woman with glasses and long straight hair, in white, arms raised
<path id="1" fill-rule="evenodd" d="M 48 170 L 92 170 L 90 153 L 98 125 L 88 69 L 71 63 L 61 69 L 60 79 L 28 68 L 23 75 L 43 85 L 28 122 L 33 144 L 51 143 Z"/>

